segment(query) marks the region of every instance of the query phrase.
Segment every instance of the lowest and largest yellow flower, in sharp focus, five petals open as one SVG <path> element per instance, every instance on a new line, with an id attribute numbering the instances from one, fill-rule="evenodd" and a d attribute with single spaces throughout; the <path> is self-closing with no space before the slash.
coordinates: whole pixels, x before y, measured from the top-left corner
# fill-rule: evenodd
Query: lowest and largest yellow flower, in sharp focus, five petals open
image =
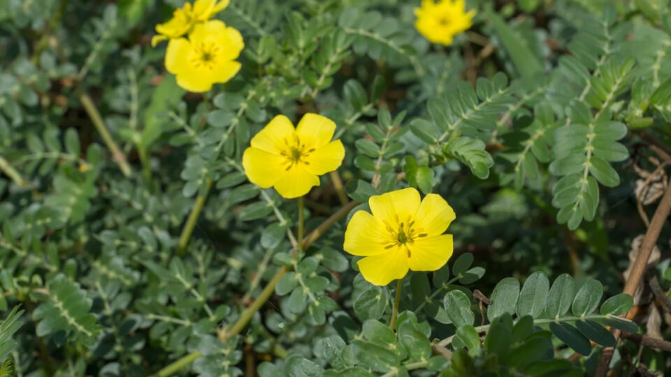
<path id="1" fill-rule="evenodd" d="M 435 271 L 452 256 L 452 235 L 444 235 L 456 219 L 445 199 L 428 194 L 419 200 L 414 188 L 371 196 L 370 211 L 358 211 L 345 230 L 343 249 L 359 260 L 370 283 L 386 286 L 403 279 L 408 269 Z"/>

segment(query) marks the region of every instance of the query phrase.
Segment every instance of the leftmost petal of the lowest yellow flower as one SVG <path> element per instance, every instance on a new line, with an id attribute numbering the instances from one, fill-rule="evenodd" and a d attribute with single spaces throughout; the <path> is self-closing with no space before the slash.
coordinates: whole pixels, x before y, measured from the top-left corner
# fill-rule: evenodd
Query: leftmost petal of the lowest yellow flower
<path id="1" fill-rule="evenodd" d="M 388 242 L 394 241 L 384 225 L 366 211 L 357 211 L 347 224 L 342 249 L 353 256 L 375 256 L 387 253 Z"/>

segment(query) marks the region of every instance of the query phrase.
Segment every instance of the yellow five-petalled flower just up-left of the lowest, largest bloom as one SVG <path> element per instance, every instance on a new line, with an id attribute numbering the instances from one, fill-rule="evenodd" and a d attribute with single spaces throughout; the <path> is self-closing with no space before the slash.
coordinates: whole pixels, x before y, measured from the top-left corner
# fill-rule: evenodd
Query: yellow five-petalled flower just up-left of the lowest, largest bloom
<path id="1" fill-rule="evenodd" d="M 245 149 L 245 173 L 263 188 L 274 186 L 284 198 L 303 196 L 319 186 L 319 175 L 338 169 L 345 158 L 342 142 L 331 141 L 334 132 L 335 123 L 319 114 L 305 114 L 296 128 L 277 115 Z"/>

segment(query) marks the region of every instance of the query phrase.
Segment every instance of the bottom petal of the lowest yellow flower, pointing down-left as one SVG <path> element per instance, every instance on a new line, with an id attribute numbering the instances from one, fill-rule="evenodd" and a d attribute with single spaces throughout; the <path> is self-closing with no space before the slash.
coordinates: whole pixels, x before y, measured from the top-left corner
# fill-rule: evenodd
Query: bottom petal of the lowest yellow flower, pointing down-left
<path id="1" fill-rule="evenodd" d="M 386 286 L 393 280 L 403 279 L 408 269 L 405 249 L 395 247 L 389 250 L 388 253 L 359 260 L 357 264 L 363 279 L 375 286 Z"/>

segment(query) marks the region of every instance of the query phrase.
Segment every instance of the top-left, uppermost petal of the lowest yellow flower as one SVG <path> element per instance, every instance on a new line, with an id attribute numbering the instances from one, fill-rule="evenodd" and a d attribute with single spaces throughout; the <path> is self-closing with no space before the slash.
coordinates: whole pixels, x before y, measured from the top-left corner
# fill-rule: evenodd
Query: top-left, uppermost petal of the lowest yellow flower
<path id="1" fill-rule="evenodd" d="M 368 205 L 375 219 L 387 223 L 396 230 L 399 223 L 412 221 L 414 218 L 419 208 L 419 192 L 410 187 L 373 195 L 368 199 Z"/>

